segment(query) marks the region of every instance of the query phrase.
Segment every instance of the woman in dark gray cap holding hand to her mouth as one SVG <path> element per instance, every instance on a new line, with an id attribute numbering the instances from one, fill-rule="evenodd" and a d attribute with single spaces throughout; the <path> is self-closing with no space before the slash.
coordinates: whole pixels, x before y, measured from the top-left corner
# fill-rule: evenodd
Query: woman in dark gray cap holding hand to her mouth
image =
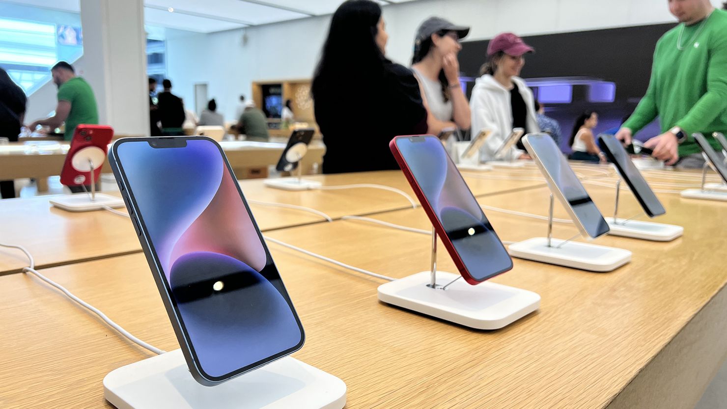
<path id="1" fill-rule="evenodd" d="M 469 32 L 469 27 L 439 17 L 429 17 L 417 30 L 411 70 L 422 89 L 430 134 L 446 128 L 470 128 L 470 106 L 459 84 L 457 60 L 462 49 L 459 40 Z"/>

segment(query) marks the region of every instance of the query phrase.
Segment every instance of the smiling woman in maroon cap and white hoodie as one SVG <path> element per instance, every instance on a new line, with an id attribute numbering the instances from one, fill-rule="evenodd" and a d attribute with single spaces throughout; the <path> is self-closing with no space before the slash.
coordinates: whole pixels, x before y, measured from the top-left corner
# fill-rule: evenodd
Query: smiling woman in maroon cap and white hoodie
<path id="1" fill-rule="evenodd" d="M 529 159 L 521 148 L 513 146 L 502 158 L 494 158 L 513 128 L 526 133 L 539 132 L 533 93 L 519 77 L 526 53 L 534 49 L 513 33 L 502 33 L 487 46 L 487 63 L 475 81 L 470 98 L 472 134 L 491 129 L 492 135 L 480 150 L 481 161 L 495 159 Z"/>

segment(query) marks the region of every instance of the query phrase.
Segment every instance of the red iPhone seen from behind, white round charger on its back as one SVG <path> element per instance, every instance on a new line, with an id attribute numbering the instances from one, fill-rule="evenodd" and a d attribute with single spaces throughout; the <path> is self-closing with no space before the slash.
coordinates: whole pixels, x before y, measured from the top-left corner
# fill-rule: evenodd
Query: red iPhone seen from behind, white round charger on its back
<path id="1" fill-rule="evenodd" d="M 71 149 L 65 156 L 60 183 L 65 186 L 91 185 L 101 176 L 101 165 L 106 159 L 108 144 L 113 138 L 113 129 L 105 125 L 79 125 L 73 132 Z"/>

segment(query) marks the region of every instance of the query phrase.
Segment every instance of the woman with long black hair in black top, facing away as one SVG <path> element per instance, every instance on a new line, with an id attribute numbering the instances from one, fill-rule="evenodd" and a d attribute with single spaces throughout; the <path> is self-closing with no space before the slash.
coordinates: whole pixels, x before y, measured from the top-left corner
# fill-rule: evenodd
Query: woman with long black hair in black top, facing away
<path id="1" fill-rule="evenodd" d="M 390 140 L 427 132 L 417 79 L 384 57 L 387 39 L 373 1 L 345 1 L 332 17 L 311 89 L 326 174 L 398 169 Z"/>

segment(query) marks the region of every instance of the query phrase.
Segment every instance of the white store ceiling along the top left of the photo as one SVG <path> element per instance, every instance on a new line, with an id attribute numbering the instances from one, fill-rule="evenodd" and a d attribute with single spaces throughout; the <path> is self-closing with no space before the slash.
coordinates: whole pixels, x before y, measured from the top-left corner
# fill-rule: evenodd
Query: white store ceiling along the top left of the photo
<path id="1" fill-rule="evenodd" d="M 123 0 L 119 0 L 123 1 Z M 374 0 L 382 5 L 415 0 Z M 0 0 L 79 12 L 79 0 Z M 145 23 L 212 33 L 332 14 L 342 0 L 145 0 Z M 173 11 L 170 11 L 173 10 Z"/>

